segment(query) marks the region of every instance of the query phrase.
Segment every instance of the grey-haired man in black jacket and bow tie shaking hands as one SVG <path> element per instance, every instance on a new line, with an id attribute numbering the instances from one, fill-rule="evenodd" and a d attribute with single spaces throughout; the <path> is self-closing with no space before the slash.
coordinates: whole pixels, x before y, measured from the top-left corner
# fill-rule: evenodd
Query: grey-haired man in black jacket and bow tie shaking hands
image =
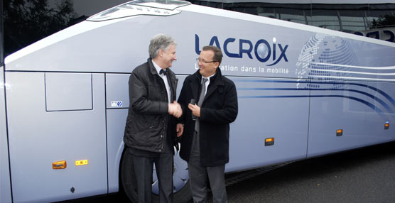
<path id="1" fill-rule="evenodd" d="M 183 111 L 175 101 L 178 79 L 170 70 L 175 40 L 155 35 L 148 48 L 147 62 L 136 67 L 129 78 L 129 114 L 124 143 L 131 153 L 139 202 L 151 202 L 153 163 L 159 185 L 159 201 L 173 202 L 173 146 L 175 118 Z"/>

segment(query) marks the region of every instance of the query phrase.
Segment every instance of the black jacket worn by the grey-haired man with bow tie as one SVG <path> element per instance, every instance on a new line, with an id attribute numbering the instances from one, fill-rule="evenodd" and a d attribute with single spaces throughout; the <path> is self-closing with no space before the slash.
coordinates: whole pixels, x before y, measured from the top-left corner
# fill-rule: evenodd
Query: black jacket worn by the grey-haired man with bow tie
<path id="1" fill-rule="evenodd" d="M 168 69 L 175 100 L 178 79 Z M 129 113 L 124 143 L 130 148 L 163 153 L 167 136 L 175 144 L 175 119 L 168 115 L 168 94 L 151 58 L 136 67 L 129 77 Z M 170 122 L 170 124 L 169 124 Z M 171 126 L 171 129 L 168 129 Z"/>

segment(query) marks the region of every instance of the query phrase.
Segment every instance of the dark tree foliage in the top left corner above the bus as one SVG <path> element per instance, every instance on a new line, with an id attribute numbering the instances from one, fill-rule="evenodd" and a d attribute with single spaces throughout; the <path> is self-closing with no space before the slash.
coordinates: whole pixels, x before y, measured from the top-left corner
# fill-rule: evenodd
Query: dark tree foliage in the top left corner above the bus
<path id="1" fill-rule="evenodd" d="M 70 26 L 72 1 L 4 0 L 4 55 Z"/>

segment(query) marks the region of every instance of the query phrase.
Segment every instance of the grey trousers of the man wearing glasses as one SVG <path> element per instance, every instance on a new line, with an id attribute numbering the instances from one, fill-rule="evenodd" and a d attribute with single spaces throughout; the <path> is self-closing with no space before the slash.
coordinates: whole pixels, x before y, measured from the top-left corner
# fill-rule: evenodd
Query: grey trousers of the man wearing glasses
<path id="1" fill-rule="evenodd" d="M 212 202 L 227 202 L 224 170 L 225 165 L 202 168 L 188 163 L 190 191 L 192 192 L 193 202 L 207 202 L 207 177 L 210 181 Z"/>

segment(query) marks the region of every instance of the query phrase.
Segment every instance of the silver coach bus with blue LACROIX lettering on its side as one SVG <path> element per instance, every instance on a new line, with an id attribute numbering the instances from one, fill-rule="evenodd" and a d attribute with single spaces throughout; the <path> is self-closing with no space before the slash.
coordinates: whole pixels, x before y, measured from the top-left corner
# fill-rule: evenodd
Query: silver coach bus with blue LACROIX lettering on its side
<path id="1" fill-rule="evenodd" d="M 130 1 L 6 57 L 0 202 L 54 202 L 121 188 L 135 199 L 133 161 L 122 142 L 127 84 L 157 33 L 178 41 L 172 69 L 179 86 L 197 70 L 203 45 L 224 53 L 222 74 L 239 96 L 226 172 L 395 140 L 395 43 L 388 35 L 340 32 L 344 20 L 333 31 L 310 26 L 313 16 L 303 25 L 235 12 L 236 3 L 195 4 Z M 175 202 L 187 202 L 188 168 L 178 155 L 174 169 Z"/>

